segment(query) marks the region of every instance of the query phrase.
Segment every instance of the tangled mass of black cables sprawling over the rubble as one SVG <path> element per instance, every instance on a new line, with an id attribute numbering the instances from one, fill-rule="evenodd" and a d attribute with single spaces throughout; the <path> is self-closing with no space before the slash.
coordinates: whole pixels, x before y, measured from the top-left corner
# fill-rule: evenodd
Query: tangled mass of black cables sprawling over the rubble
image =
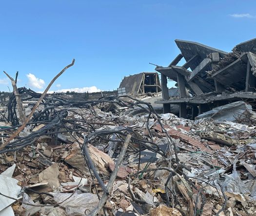
<path id="1" fill-rule="evenodd" d="M 26 88 L 19 88 L 19 93 L 21 96 L 23 95 L 23 100 L 28 100 L 32 98 L 38 99 L 40 97 L 39 93 L 36 93 Z M 24 97 L 24 95 L 26 97 Z M 31 146 L 36 142 L 36 140 L 40 136 L 44 134 L 56 135 L 58 133 L 67 132 L 67 133 L 70 133 L 79 142 L 79 140 L 73 135 L 73 133 L 76 133 L 77 137 L 84 138 L 84 142 L 83 143 L 79 142 L 79 144 L 81 148 L 81 154 L 85 158 L 86 164 L 91 171 L 92 178 L 93 179 L 96 178 L 100 187 L 102 188 L 102 191 L 108 194 L 109 191 L 104 185 L 102 178 L 100 177 L 100 173 L 98 173 L 90 157 L 88 144 L 90 143 L 90 145 L 96 145 L 98 139 L 102 139 L 110 142 L 123 143 L 125 142 L 126 136 L 130 134 L 131 140 L 129 142 L 128 148 L 130 151 L 134 151 L 135 153 L 138 153 L 138 171 L 134 174 L 129 175 L 129 183 L 130 183 L 130 178 L 138 177 L 138 174 L 140 174 L 141 172 L 166 170 L 169 172 L 169 177 L 165 183 L 166 204 L 167 206 L 176 207 L 178 205 L 181 207 L 176 197 L 175 190 L 174 188 L 171 187 L 170 182 L 172 178 L 178 174 L 183 176 L 183 178 L 191 185 L 192 188 L 195 188 L 196 190 L 198 190 L 195 183 L 193 183 L 187 177 L 187 175 L 183 172 L 183 169 L 187 169 L 189 171 L 191 171 L 191 169 L 184 166 L 182 163 L 180 163 L 179 158 L 177 156 L 176 144 L 174 141 L 172 141 L 172 138 L 170 137 L 169 133 L 167 133 L 167 131 L 165 130 L 164 126 L 162 125 L 160 116 L 157 114 L 157 112 L 152 107 L 152 105 L 150 103 L 134 99 L 130 96 L 125 96 L 124 98 L 126 100 L 120 97 L 113 96 L 113 97 L 102 97 L 99 100 L 74 101 L 74 100 L 59 98 L 56 96 L 45 97 L 45 99 L 40 104 L 41 108 L 38 110 L 38 112 L 34 114 L 30 122 L 27 124 L 28 126 L 31 127 L 31 130 L 42 123 L 45 124 L 45 126 L 24 137 L 17 137 L 14 141 L 12 141 L 8 145 L 6 145 L 3 149 L 1 149 L 0 154 L 10 152 L 10 151 L 12 152 L 19 151 L 27 146 Z M 124 126 L 119 130 L 117 129 L 96 130 L 94 123 L 88 122 L 87 119 L 83 117 L 83 115 L 79 114 L 79 112 L 76 111 L 76 109 L 88 109 L 90 110 L 92 115 L 97 117 L 94 107 L 97 105 L 99 106 L 103 104 L 118 104 L 118 106 L 120 107 L 128 107 L 128 108 L 133 108 L 137 106 L 143 109 L 146 113 L 148 113 L 145 126 L 149 134 L 150 140 L 141 138 L 141 136 L 139 136 L 131 128 L 124 127 Z M 74 110 L 73 108 L 76 108 L 76 109 Z M 8 112 L 7 121 L 11 122 L 13 127 L 10 127 L 7 129 L 1 129 L 0 132 L 4 132 L 6 130 L 13 130 L 20 126 L 19 119 L 17 117 L 17 113 L 15 110 L 16 110 L 16 100 L 15 100 L 15 96 L 13 95 L 10 98 L 10 101 L 7 105 L 7 112 Z M 74 115 L 77 115 L 77 116 L 79 115 L 79 117 L 69 116 L 69 113 L 73 113 Z M 161 127 L 162 133 L 164 133 L 165 136 L 167 137 L 166 140 L 169 146 L 169 150 L 170 150 L 169 152 L 165 152 L 161 150 L 159 146 L 156 143 L 154 143 L 153 135 L 149 127 L 149 120 L 151 117 L 154 117 L 156 119 L 156 122 Z M 113 137 L 113 135 L 118 137 L 118 139 L 111 139 L 110 137 Z M 4 137 L 8 138 L 8 136 L 6 135 Z M 135 144 L 138 145 L 138 149 L 133 147 Z M 140 169 L 141 150 L 150 150 L 155 153 L 158 153 L 159 155 L 162 156 L 163 161 L 168 165 L 168 167 L 163 167 L 158 165 L 158 167 L 155 169 L 148 168 L 147 170 L 145 169 L 141 170 Z M 129 191 L 134 200 L 140 203 L 144 202 L 143 200 L 136 198 L 131 189 L 129 189 Z M 195 204 L 194 216 L 198 215 L 199 214 L 198 212 L 202 212 L 203 206 L 206 201 L 205 195 L 202 193 L 202 190 L 198 191 L 197 202 L 199 197 L 201 197 L 201 200 L 202 200 L 201 206 L 200 206 L 200 209 L 197 209 L 197 203 Z"/>

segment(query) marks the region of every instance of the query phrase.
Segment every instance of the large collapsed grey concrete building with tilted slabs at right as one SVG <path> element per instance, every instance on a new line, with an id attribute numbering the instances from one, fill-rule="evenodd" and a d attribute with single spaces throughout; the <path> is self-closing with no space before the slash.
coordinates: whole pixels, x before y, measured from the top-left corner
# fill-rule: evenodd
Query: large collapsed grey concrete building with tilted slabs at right
<path id="1" fill-rule="evenodd" d="M 164 113 L 170 112 L 171 104 L 178 104 L 179 116 L 187 118 L 190 105 L 195 119 L 198 114 L 239 100 L 255 110 L 256 38 L 236 45 L 230 53 L 192 41 L 175 42 L 181 53 L 169 66 L 156 67 L 162 88 L 162 101 L 156 103 L 163 104 Z M 186 63 L 177 66 L 182 58 Z M 169 98 L 167 79 L 177 82 L 179 97 Z"/>

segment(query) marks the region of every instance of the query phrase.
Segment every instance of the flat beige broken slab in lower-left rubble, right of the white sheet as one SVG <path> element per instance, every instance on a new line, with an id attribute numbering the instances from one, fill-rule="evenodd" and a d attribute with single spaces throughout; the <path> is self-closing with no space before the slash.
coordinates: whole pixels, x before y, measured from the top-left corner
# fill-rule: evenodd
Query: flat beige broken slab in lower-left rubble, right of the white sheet
<path id="1" fill-rule="evenodd" d="M 39 173 L 39 182 L 47 182 L 49 187 L 56 189 L 59 187 L 59 166 L 53 164 Z"/>

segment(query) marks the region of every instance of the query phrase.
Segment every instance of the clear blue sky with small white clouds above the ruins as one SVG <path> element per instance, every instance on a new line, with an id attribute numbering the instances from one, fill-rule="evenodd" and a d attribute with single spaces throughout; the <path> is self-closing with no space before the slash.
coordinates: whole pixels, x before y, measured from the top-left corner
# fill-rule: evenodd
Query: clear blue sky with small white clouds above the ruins
<path id="1" fill-rule="evenodd" d="M 167 66 L 175 39 L 230 51 L 256 37 L 255 0 L 13 0 L 0 7 L 0 90 L 11 84 L 43 91 L 96 86 L 113 90 L 124 76 Z M 173 83 L 170 83 L 171 86 Z"/>

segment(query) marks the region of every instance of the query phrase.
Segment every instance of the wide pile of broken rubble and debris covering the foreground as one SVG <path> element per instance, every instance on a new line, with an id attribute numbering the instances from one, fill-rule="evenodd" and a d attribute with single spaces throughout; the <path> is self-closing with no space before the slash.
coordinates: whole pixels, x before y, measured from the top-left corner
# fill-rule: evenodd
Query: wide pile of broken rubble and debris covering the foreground
<path id="1" fill-rule="evenodd" d="M 7 142 L 20 127 L 10 101 L 0 122 L 0 216 L 256 214 L 249 123 L 158 115 L 129 96 L 45 97 Z M 131 115 L 133 107 L 145 112 Z"/>

